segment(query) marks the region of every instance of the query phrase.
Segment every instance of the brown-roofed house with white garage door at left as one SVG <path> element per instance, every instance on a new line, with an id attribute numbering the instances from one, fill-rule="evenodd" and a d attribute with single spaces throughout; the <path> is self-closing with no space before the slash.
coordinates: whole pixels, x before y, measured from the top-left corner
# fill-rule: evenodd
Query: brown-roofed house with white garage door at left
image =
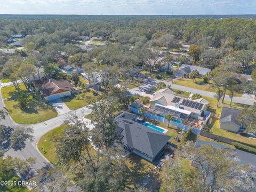
<path id="1" fill-rule="evenodd" d="M 35 81 L 35 86 L 47 101 L 57 100 L 81 92 L 79 87 L 75 87 L 66 80 L 55 80 L 50 77 L 43 77 L 41 80 Z"/>

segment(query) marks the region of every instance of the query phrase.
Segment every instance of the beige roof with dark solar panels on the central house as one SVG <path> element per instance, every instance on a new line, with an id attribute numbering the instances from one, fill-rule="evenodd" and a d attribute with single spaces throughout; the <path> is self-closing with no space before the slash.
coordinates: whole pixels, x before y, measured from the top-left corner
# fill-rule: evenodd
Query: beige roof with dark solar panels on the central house
<path id="1" fill-rule="evenodd" d="M 202 110 L 205 108 L 205 105 L 207 105 L 206 100 L 191 100 L 179 97 L 177 95 L 174 95 L 175 92 L 173 92 L 170 89 L 163 89 L 159 90 L 154 93 L 154 97 L 149 101 L 158 101 L 159 103 L 162 103 L 164 106 L 172 106 L 178 108 L 183 108 L 185 110 L 191 111 L 193 113 L 201 114 Z"/>

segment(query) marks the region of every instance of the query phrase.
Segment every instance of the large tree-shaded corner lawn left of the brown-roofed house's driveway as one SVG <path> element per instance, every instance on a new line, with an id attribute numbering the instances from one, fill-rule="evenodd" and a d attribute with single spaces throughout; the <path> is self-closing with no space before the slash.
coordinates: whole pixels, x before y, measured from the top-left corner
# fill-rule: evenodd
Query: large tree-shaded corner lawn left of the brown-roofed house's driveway
<path id="1" fill-rule="evenodd" d="M 25 85 L 20 85 L 20 89 L 25 91 Z M 28 109 L 21 110 L 19 107 L 18 92 L 13 85 L 5 86 L 1 89 L 4 104 L 9 110 L 13 121 L 20 124 L 34 124 L 46 121 L 58 115 L 57 111 L 48 103 L 40 100 L 37 96 L 29 96 Z"/>

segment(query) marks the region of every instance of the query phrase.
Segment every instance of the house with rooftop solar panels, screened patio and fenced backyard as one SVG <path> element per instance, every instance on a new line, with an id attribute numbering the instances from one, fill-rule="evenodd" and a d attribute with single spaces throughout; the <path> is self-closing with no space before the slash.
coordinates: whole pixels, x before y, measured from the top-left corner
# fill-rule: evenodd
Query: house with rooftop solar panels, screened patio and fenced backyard
<path id="1" fill-rule="evenodd" d="M 166 124 L 169 122 L 165 115 L 170 114 L 173 117 L 171 125 L 185 131 L 192 129 L 195 134 L 201 133 L 211 117 L 211 112 L 206 110 L 209 102 L 179 97 L 170 89 L 157 91 L 149 102 L 150 108 L 146 113 L 142 114 L 140 108 L 133 106 L 131 111 Z"/>

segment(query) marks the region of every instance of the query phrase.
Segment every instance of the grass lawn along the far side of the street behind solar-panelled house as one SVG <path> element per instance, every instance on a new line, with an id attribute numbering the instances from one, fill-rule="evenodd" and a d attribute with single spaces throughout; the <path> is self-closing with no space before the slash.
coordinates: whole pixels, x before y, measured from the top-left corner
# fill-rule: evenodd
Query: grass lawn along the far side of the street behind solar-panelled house
<path id="1" fill-rule="evenodd" d="M 177 85 L 191 87 L 191 88 L 198 89 L 198 90 L 217 92 L 217 89 L 211 87 L 212 81 L 210 81 L 209 83 L 204 83 L 202 78 L 196 78 L 195 82 L 193 82 L 192 79 L 182 78 L 182 79 L 178 79 L 178 80 L 174 81 L 173 83 L 177 84 Z M 228 94 L 229 94 L 229 91 L 227 90 L 226 95 L 228 95 Z M 236 97 L 241 97 L 242 94 L 237 93 L 235 96 Z"/>

